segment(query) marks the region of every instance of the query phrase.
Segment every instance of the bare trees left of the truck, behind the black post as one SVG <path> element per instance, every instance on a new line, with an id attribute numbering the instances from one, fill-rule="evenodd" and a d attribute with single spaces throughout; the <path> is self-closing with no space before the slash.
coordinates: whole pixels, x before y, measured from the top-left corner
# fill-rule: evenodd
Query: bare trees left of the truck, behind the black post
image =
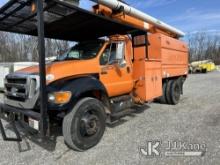
<path id="1" fill-rule="evenodd" d="M 57 56 L 70 47 L 68 41 L 45 40 L 46 57 Z M 38 61 L 38 42 L 33 36 L 0 32 L 0 62 Z"/>

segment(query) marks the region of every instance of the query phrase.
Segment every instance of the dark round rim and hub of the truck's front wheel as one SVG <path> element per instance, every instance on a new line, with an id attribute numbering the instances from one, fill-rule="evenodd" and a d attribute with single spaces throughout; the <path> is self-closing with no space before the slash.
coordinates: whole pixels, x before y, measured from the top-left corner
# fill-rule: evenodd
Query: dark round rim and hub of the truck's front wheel
<path id="1" fill-rule="evenodd" d="M 87 111 L 80 120 L 80 135 L 88 138 L 96 135 L 101 129 L 100 120 L 94 110 Z"/>

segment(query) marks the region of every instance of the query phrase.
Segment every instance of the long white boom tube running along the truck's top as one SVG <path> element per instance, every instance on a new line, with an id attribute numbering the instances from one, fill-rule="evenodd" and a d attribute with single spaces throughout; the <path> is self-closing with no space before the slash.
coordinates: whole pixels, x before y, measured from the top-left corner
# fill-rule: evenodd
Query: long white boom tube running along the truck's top
<path id="1" fill-rule="evenodd" d="M 178 30 L 178 29 L 176 29 L 176 28 L 174 28 L 174 27 L 148 15 L 148 14 L 145 14 L 144 12 L 141 12 L 140 10 L 137 10 L 137 9 L 125 4 L 125 3 L 122 3 L 118 0 L 91 0 L 91 1 L 96 2 L 98 4 L 105 5 L 111 9 L 114 9 L 114 10 L 118 10 L 121 7 L 123 7 L 124 12 L 127 15 L 130 15 L 132 17 L 136 17 L 136 18 L 141 19 L 143 21 L 149 22 L 149 23 L 157 26 L 158 28 L 170 31 L 170 32 L 178 35 L 179 37 L 185 36 L 185 33 L 182 32 L 181 30 Z"/>

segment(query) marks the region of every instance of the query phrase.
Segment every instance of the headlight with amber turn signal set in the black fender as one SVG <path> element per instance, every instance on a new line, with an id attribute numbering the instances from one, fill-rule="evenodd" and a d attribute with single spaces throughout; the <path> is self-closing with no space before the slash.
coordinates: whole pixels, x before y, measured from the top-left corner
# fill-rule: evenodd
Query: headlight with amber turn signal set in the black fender
<path id="1" fill-rule="evenodd" d="M 48 94 L 48 101 L 55 104 L 66 104 L 70 101 L 72 93 L 70 91 L 60 91 Z"/>

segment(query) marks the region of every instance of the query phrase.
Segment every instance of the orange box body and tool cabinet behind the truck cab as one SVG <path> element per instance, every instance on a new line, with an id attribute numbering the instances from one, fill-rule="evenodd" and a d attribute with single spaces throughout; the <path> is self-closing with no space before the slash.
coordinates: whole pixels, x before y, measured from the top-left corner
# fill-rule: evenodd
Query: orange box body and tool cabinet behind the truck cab
<path id="1" fill-rule="evenodd" d="M 145 46 L 134 48 L 134 78 L 138 82 L 135 92 L 144 101 L 163 95 L 164 81 L 188 74 L 188 48 L 184 42 L 159 33 L 150 34 L 148 41 L 148 51 Z"/>

